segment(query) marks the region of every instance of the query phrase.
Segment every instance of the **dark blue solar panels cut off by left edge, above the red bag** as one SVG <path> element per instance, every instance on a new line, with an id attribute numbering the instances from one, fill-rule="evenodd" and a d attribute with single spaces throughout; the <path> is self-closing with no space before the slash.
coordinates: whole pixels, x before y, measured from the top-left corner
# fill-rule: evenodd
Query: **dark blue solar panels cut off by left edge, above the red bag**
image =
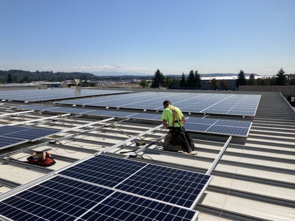
<path id="1" fill-rule="evenodd" d="M 40 140 L 56 133 L 60 133 L 60 131 L 8 125 L 0 126 L 0 148 Z"/>

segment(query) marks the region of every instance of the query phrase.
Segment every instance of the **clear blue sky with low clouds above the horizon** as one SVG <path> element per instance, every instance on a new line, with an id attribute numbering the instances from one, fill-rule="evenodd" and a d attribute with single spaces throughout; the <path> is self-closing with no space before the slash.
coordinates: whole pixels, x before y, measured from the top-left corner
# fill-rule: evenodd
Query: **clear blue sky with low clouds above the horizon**
<path id="1" fill-rule="evenodd" d="M 295 73 L 294 11 L 294 0 L 0 0 L 0 70 Z"/>

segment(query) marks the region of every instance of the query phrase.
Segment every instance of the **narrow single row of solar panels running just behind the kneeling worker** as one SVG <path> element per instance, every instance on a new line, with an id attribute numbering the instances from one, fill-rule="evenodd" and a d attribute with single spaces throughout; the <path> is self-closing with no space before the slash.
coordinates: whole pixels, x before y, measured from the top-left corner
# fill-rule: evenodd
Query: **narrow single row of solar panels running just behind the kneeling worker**
<path id="1" fill-rule="evenodd" d="M 84 108 L 58 108 L 53 106 L 41 106 L 41 105 L 24 105 L 15 108 L 30 109 L 30 110 L 47 110 L 52 112 L 65 112 L 76 114 L 87 114 L 97 116 L 110 116 L 110 117 L 122 117 L 122 118 L 139 118 L 148 120 L 161 120 L 159 114 L 148 113 L 135 113 L 135 112 L 118 112 L 111 110 L 91 110 Z M 201 119 L 189 117 L 186 119 L 184 128 L 190 131 L 202 132 L 202 133 L 216 133 L 224 135 L 234 135 L 247 137 L 251 127 L 251 122 L 247 121 L 229 121 L 229 120 L 216 120 L 216 119 Z"/>

